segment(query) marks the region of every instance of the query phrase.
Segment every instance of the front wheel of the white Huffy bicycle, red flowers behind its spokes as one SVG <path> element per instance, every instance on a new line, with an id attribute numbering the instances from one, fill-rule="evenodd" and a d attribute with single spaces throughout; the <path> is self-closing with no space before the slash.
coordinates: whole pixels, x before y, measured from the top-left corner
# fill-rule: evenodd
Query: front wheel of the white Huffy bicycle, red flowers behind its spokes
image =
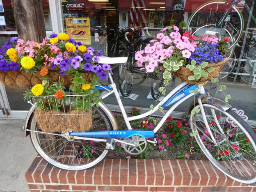
<path id="1" fill-rule="evenodd" d="M 199 108 L 199 105 L 195 108 Z M 203 153 L 217 169 L 235 181 L 245 184 L 255 183 L 256 134 L 254 131 L 231 109 L 222 111 L 208 104 L 203 104 L 203 109 L 213 137 L 205 126 L 201 110 L 198 114 L 190 115 L 194 137 Z"/>

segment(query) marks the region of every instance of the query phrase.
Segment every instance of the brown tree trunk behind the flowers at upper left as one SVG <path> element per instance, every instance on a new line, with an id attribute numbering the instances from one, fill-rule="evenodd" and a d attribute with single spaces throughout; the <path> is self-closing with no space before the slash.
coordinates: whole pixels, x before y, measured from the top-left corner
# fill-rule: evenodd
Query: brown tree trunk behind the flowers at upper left
<path id="1" fill-rule="evenodd" d="M 11 0 L 18 37 L 42 42 L 46 37 L 41 0 Z"/>

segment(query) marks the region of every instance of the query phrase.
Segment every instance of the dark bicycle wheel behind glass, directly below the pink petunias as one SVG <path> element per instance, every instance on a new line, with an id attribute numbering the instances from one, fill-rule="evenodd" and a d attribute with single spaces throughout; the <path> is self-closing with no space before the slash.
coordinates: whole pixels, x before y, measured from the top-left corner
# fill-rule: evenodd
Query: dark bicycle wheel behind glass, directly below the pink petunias
<path id="1" fill-rule="evenodd" d="M 151 81 L 151 96 L 154 100 L 157 100 L 160 96 L 160 91 L 158 90 L 159 87 L 162 87 L 164 84 L 163 78 L 163 71 L 160 71 L 159 74 L 153 73 L 152 74 L 152 81 Z"/>

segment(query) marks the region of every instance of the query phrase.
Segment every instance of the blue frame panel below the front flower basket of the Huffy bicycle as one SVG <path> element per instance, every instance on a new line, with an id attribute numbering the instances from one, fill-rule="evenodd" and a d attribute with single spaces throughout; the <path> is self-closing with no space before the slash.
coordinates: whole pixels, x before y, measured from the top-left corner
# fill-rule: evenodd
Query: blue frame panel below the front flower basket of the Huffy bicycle
<path id="1" fill-rule="evenodd" d="M 184 87 L 182 87 L 180 90 L 176 92 L 171 98 L 169 98 L 162 107 L 168 107 L 169 105 L 176 103 L 177 101 L 181 100 L 183 97 L 190 94 L 189 91 L 194 91 L 194 89 L 197 89 L 198 86 L 194 84 L 187 84 Z"/>

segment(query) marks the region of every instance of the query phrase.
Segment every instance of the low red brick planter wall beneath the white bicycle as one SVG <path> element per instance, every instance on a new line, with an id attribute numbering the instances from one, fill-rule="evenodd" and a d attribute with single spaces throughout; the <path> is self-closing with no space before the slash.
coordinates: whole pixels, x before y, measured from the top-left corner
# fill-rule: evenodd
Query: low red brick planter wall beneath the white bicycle
<path id="1" fill-rule="evenodd" d="M 66 171 L 36 157 L 25 176 L 32 192 L 256 191 L 201 160 L 105 159 L 92 169 Z"/>

